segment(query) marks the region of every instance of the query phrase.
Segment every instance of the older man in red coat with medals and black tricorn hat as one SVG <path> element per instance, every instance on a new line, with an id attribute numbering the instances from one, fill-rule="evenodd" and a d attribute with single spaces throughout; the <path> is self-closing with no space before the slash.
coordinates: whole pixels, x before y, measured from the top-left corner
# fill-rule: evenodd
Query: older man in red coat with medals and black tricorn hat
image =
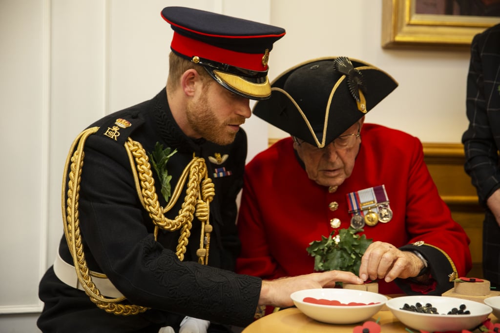
<path id="1" fill-rule="evenodd" d="M 245 169 L 236 272 L 263 279 L 311 272 L 306 248 L 333 230 L 372 239 L 359 276 L 383 294 L 441 295 L 470 270 L 469 240 L 451 219 L 420 141 L 364 123 L 397 86 L 347 57 L 313 59 L 282 73 L 253 113 L 289 133 Z"/>

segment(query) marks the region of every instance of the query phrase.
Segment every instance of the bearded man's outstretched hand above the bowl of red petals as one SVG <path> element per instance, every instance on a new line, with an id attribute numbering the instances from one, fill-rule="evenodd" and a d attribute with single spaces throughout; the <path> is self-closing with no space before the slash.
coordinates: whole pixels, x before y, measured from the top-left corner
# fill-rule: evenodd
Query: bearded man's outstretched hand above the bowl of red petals
<path id="1" fill-rule="evenodd" d="M 272 281 L 262 281 L 258 305 L 270 305 L 279 308 L 291 307 L 290 294 L 304 289 L 334 287 L 335 282 L 360 285 L 363 282 L 350 272 L 328 271 L 311 273 Z"/>

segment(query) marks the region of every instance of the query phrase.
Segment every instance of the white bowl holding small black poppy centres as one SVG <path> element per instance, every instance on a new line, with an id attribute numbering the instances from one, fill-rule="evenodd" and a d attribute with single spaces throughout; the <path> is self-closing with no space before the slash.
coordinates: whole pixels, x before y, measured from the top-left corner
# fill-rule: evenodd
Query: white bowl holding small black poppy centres
<path id="1" fill-rule="evenodd" d="M 430 303 L 438 314 L 424 314 L 401 310 L 404 304 L 409 306 Z M 479 302 L 443 296 L 402 296 L 385 303 L 392 314 L 409 328 L 427 332 L 445 332 L 470 330 L 481 324 L 491 313 L 491 308 Z M 447 315 L 453 308 L 465 305 L 470 315 Z"/>

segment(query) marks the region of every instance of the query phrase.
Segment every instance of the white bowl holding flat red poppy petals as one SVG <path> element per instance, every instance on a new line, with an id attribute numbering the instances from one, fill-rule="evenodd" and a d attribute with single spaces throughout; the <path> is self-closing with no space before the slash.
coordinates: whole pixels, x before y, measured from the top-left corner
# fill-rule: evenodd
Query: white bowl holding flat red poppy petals
<path id="1" fill-rule="evenodd" d="M 290 297 L 297 309 L 304 315 L 328 324 L 354 324 L 364 322 L 376 314 L 385 302 L 387 302 L 387 298 L 380 294 L 337 288 L 301 290 L 292 293 Z M 348 304 L 350 302 L 376 304 L 358 306 L 319 305 L 304 302 L 303 299 L 305 297 L 312 297 L 317 300 L 325 299 L 329 301 L 339 301 L 342 304 Z"/>

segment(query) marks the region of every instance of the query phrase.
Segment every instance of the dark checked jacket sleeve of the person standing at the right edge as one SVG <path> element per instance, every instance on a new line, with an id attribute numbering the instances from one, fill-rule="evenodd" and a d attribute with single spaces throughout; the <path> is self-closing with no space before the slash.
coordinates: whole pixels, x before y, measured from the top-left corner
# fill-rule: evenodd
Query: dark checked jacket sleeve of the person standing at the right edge
<path id="1" fill-rule="evenodd" d="M 500 187 L 500 24 L 472 39 L 466 107 L 465 172 L 486 206 L 487 198 Z"/>

